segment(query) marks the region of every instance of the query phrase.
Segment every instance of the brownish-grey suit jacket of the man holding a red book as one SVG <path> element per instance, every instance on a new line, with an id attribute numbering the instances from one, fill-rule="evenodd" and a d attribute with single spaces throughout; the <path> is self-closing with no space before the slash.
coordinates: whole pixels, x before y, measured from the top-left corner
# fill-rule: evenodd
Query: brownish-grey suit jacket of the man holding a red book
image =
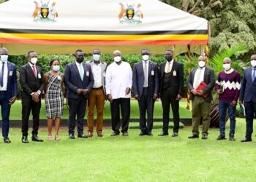
<path id="1" fill-rule="evenodd" d="M 187 80 L 187 86 L 189 87 L 190 90 L 190 98 L 191 100 L 194 100 L 195 95 L 191 92 L 192 90 L 195 90 L 196 88 L 193 87 L 194 79 L 195 79 L 195 71 L 197 71 L 197 68 L 192 69 L 189 73 L 189 78 Z M 205 82 L 207 87 L 203 90 L 204 93 L 207 93 L 207 97 L 205 98 L 206 102 L 211 103 L 212 94 L 211 90 L 213 90 L 214 85 L 215 85 L 215 79 L 214 79 L 214 70 L 211 68 L 206 67 L 205 73 L 203 76 L 203 82 Z"/>

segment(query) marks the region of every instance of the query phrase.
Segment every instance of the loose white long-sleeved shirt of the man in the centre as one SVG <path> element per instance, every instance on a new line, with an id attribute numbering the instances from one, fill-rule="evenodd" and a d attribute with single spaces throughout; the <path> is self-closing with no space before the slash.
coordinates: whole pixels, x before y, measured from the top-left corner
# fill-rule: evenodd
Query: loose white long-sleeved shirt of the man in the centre
<path id="1" fill-rule="evenodd" d="M 113 62 L 106 72 L 106 92 L 113 99 L 131 98 L 131 92 L 126 95 L 127 87 L 132 88 L 132 68 L 129 63 L 121 62 L 120 65 Z"/>

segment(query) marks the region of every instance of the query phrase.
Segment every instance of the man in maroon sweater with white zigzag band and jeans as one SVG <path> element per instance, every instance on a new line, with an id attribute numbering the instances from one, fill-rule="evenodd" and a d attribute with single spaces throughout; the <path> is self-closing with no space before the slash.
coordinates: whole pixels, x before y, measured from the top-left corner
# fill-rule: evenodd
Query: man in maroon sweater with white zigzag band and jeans
<path id="1" fill-rule="evenodd" d="M 229 140 L 235 141 L 234 134 L 236 129 L 236 104 L 240 94 L 241 77 L 238 71 L 232 67 L 232 60 L 223 60 L 224 70 L 219 72 L 215 90 L 219 95 L 219 136 L 217 141 L 225 140 L 226 113 L 230 117 Z"/>

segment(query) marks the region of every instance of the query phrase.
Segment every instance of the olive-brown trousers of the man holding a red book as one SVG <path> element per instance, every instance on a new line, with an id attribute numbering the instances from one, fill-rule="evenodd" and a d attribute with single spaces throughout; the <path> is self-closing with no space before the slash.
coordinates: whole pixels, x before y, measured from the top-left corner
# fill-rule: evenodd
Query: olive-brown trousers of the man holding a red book
<path id="1" fill-rule="evenodd" d="M 203 133 L 208 134 L 211 122 L 211 103 L 206 102 L 203 97 L 195 96 L 192 101 L 192 132 L 199 135 L 198 127 L 200 120 L 203 120 Z"/>

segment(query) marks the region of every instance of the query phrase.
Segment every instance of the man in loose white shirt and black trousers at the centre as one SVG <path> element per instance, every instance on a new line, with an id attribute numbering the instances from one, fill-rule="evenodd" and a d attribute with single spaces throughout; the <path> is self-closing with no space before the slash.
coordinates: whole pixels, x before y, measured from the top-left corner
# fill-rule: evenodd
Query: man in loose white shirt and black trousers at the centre
<path id="1" fill-rule="evenodd" d="M 130 117 L 130 98 L 132 88 L 132 68 L 129 63 L 121 60 L 121 52 L 113 52 L 114 62 L 110 64 L 106 72 L 106 92 L 110 101 L 112 134 L 120 134 L 120 107 L 122 126 L 121 132 L 128 136 Z"/>

